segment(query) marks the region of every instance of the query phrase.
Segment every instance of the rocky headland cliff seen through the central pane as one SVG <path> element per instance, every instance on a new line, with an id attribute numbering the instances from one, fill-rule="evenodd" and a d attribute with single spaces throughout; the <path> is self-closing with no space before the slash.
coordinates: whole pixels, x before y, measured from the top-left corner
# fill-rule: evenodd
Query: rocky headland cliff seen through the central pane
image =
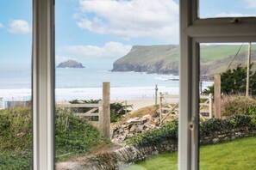
<path id="1" fill-rule="evenodd" d="M 116 60 L 112 71 L 135 71 L 178 75 L 178 46 L 133 46 Z"/>

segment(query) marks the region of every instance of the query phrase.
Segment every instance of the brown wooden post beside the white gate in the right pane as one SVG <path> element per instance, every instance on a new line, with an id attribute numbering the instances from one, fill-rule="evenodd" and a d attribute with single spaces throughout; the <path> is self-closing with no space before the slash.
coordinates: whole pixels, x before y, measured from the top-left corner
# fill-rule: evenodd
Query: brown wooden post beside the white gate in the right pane
<path id="1" fill-rule="evenodd" d="M 221 118 L 221 75 L 215 75 L 215 118 Z"/>

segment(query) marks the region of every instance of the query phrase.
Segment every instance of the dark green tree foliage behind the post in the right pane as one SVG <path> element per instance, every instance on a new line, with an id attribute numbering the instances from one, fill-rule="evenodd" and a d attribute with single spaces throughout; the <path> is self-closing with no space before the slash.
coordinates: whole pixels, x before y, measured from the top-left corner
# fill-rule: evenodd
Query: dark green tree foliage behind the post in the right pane
<path id="1" fill-rule="evenodd" d="M 252 67 L 251 64 L 250 67 Z M 245 94 L 247 84 L 247 67 L 241 67 L 240 64 L 233 70 L 226 70 L 221 74 L 221 93 L 222 94 Z M 249 93 L 256 94 L 256 72 L 250 71 Z M 203 91 L 203 94 L 214 94 L 214 85 L 209 86 Z"/>

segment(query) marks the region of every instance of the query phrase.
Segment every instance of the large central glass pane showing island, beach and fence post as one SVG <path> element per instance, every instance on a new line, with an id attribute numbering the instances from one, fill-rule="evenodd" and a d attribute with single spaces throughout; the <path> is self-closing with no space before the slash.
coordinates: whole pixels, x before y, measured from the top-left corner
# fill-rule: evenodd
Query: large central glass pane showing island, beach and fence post
<path id="1" fill-rule="evenodd" d="M 177 167 L 178 34 L 177 1 L 56 1 L 57 169 Z"/>

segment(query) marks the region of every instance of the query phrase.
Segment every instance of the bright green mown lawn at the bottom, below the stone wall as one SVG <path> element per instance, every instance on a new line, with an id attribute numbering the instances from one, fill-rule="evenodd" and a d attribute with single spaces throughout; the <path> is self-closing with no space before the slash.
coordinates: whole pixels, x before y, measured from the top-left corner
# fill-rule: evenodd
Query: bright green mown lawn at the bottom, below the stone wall
<path id="1" fill-rule="evenodd" d="M 232 142 L 202 146 L 200 148 L 200 169 L 255 169 L 256 137 L 237 139 Z M 178 169 L 178 153 L 155 155 L 125 170 L 170 170 Z"/>

